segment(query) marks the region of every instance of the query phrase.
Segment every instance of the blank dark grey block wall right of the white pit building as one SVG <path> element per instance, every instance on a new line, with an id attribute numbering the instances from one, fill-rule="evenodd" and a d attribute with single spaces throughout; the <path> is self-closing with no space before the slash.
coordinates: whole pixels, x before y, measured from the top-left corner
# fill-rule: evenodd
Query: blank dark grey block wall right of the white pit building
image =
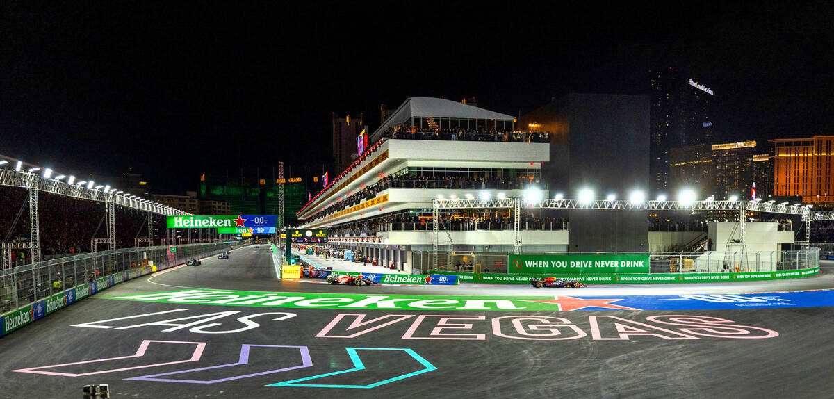
<path id="1" fill-rule="evenodd" d="M 633 189 L 649 195 L 648 96 L 570 93 L 520 117 L 519 125 L 554 133 L 542 179 L 551 194 L 575 199 L 589 187 L 595 198 L 627 200 Z M 647 198 L 648 200 L 648 198 Z M 648 212 L 569 210 L 568 250 L 646 251 Z"/>

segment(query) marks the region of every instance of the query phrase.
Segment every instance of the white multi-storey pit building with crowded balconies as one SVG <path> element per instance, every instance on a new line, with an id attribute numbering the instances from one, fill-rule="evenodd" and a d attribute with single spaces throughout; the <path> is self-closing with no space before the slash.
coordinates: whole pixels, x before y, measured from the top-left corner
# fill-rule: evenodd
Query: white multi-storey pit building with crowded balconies
<path id="1" fill-rule="evenodd" d="M 433 199 L 550 195 L 541 178 L 550 136 L 516 122 L 443 98 L 408 98 L 357 159 L 299 210 L 299 228 L 329 227 L 329 245 L 360 250 L 379 265 L 429 270 Z M 515 245 L 511 212 L 441 210 L 439 268 L 505 272 Z M 567 250 L 566 220 L 522 212 L 525 252 Z"/>

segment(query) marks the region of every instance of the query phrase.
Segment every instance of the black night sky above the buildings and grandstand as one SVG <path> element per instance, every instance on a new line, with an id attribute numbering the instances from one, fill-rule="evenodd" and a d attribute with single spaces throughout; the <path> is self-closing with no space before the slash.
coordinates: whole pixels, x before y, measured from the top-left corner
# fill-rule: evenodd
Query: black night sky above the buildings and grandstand
<path id="1" fill-rule="evenodd" d="M 333 112 L 375 129 L 380 103 L 475 96 L 518 115 L 569 92 L 646 93 L 646 71 L 668 67 L 715 92 L 721 140 L 834 134 L 826 3 L 397 4 L 2 2 L 0 154 L 133 168 L 182 194 L 241 166 L 320 170 Z"/>

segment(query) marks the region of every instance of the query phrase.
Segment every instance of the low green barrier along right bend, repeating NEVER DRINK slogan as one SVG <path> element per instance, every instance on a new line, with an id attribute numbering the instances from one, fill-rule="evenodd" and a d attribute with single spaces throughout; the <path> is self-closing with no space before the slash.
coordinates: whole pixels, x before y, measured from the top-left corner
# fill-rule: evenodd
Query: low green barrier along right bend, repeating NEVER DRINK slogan
<path id="1" fill-rule="evenodd" d="M 642 275 L 505 275 L 491 273 L 458 273 L 431 270 L 438 275 L 457 275 L 461 281 L 490 284 L 530 284 L 530 278 L 556 277 L 579 280 L 585 284 L 645 284 L 645 283 L 714 283 L 716 281 L 781 280 L 811 277 L 820 274 L 819 267 L 800 270 L 766 271 L 753 273 L 670 273 Z"/>

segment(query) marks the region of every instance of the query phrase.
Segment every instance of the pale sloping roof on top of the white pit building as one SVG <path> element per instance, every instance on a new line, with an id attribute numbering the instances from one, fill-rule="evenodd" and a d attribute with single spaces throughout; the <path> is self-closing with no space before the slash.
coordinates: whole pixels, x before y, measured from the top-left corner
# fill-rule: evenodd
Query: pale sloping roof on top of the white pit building
<path id="1" fill-rule="evenodd" d="M 412 97 L 394 111 L 394 114 L 385 120 L 379 129 L 376 129 L 374 136 L 388 130 L 396 124 L 402 124 L 412 117 L 432 116 L 435 118 L 460 118 L 460 119 L 515 119 L 510 115 L 500 114 L 489 109 L 473 107 L 467 104 L 460 104 L 445 98 L 433 97 Z"/>

